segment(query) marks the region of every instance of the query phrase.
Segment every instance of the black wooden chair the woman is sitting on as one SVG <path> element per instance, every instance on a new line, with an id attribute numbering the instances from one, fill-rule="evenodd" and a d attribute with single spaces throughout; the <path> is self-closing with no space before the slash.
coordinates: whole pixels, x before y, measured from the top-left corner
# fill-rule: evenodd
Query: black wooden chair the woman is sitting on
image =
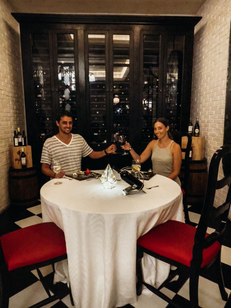
<path id="1" fill-rule="evenodd" d="M 180 145 L 182 152 L 182 164 L 180 168 L 180 182 L 181 190 L 183 194 L 183 206 L 184 206 L 184 219 L 189 225 L 194 225 L 188 216 L 188 177 L 189 177 L 189 153 L 192 145 L 192 137 L 186 132 L 172 132 L 173 140 Z M 185 142 L 182 143 L 182 138 L 185 138 Z M 186 146 L 185 146 L 186 145 Z"/>

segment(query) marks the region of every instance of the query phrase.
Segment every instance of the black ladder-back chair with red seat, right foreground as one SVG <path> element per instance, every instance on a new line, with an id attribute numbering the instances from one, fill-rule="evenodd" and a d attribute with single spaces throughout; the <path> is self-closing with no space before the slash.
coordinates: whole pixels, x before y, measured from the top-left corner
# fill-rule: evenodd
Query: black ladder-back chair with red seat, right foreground
<path id="1" fill-rule="evenodd" d="M 166 286 L 174 276 L 183 273 L 186 278 L 189 277 L 191 307 L 198 308 L 199 276 L 213 264 L 221 297 L 227 301 L 228 296 L 221 271 L 221 244 L 230 209 L 231 174 L 221 180 L 217 178 L 220 161 L 229 153 L 231 153 L 231 145 L 224 145 L 213 154 L 209 166 L 205 201 L 197 228 L 179 221 L 167 221 L 137 240 L 137 295 L 141 294 L 143 284 L 160 298 L 179 308 L 180 306 L 172 302 L 160 289 Z M 228 185 L 228 192 L 225 203 L 217 208 L 213 207 L 216 190 L 226 185 Z M 214 223 L 216 230 L 208 234 L 206 231 L 210 221 Z M 158 289 L 143 281 L 140 265 L 143 253 L 177 267 L 174 274 L 169 275 Z"/>

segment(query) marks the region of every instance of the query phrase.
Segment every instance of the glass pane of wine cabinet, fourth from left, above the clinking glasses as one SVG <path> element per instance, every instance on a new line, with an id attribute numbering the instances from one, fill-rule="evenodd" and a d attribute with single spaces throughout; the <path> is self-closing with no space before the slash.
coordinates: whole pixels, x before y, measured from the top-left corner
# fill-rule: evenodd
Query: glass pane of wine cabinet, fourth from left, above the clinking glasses
<path id="1" fill-rule="evenodd" d="M 129 140 L 130 35 L 113 34 L 113 133 Z"/>

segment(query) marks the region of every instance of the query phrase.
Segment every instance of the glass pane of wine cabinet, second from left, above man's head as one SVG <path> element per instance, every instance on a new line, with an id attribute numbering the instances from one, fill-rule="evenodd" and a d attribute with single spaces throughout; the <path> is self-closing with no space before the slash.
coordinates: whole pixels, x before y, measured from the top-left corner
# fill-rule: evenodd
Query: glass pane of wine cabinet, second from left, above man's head
<path id="1" fill-rule="evenodd" d="M 75 53 L 74 34 L 56 33 L 57 40 L 57 74 L 59 110 L 72 114 L 73 128 L 77 130 L 76 87 L 75 87 Z M 56 72 L 55 72 L 56 73 Z"/>

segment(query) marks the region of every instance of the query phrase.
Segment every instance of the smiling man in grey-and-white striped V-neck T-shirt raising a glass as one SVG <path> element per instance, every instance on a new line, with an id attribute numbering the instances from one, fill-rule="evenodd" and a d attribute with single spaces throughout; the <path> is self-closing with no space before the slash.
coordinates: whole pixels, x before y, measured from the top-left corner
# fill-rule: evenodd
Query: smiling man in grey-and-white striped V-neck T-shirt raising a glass
<path id="1" fill-rule="evenodd" d="M 61 178 L 65 174 L 81 170 L 82 157 L 97 159 L 116 150 L 116 146 L 112 144 L 103 151 L 95 152 L 82 136 L 72 134 L 72 115 L 68 111 L 61 112 L 56 124 L 59 133 L 45 141 L 41 157 L 42 172 L 51 178 Z M 62 166 L 58 174 L 51 170 L 52 161 L 55 159 L 59 160 Z"/>

